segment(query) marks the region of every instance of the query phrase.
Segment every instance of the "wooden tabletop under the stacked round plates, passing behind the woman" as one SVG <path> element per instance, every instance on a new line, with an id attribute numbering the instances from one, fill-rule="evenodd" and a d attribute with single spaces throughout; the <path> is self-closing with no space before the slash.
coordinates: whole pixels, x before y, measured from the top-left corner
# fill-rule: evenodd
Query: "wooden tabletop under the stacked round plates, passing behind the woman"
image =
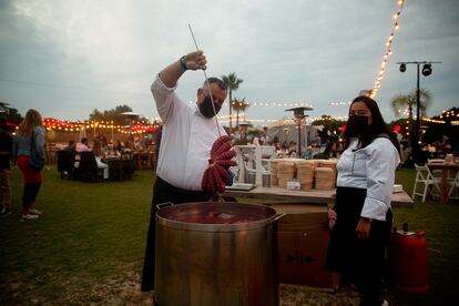
<path id="1" fill-rule="evenodd" d="M 251 191 L 226 190 L 224 196 L 280 200 L 304 202 L 307 204 L 327 205 L 335 203 L 336 190 L 310 190 L 310 191 L 288 191 L 276 186 L 255 187 Z M 412 208 L 412 198 L 404 191 L 392 193 L 391 205 L 394 208 Z"/>

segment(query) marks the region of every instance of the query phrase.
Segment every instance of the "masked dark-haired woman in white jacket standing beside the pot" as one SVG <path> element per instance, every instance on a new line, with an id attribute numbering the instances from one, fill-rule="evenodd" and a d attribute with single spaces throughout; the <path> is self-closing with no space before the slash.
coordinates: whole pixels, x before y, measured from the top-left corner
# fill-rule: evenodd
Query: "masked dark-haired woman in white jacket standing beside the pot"
<path id="1" fill-rule="evenodd" d="M 337 164 L 326 267 L 354 282 L 360 305 L 387 303 L 380 298 L 381 275 L 399 162 L 398 142 L 377 103 L 368 96 L 356 98 L 346 125 L 345 151 Z"/>

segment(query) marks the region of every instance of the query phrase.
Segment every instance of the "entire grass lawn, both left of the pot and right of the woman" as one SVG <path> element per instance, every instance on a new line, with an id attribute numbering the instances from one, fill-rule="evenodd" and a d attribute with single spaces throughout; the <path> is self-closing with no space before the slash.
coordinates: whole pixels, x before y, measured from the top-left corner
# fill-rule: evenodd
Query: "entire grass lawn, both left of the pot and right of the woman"
<path id="1" fill-rule="evenodd" d="M 47 167 L 37 207 L 43 216 L 20 222 L 22 183 L 12 170 L 13 215 L 0 220 L 0 305 L 140 305 L 150 203 L 154 175 L 132 181 L 83 183 L 61 180 Z M 412 190 L 414 170 L 397 172 Z M 459 204 L 416 201 L 395 210 L 395 226 L 425 230 L 431 290 L 404 295 L 389 289 L 398 305 L 455 304 L 459 283 Z"/>

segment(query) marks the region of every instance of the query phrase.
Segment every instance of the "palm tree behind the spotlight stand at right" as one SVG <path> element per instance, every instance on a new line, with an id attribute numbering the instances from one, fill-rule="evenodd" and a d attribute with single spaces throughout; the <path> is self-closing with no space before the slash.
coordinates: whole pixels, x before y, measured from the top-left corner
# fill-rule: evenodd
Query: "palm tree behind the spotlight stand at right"
<path id="1" fill-rule="evenodd" d="M 410 131 L 412 132 L 412 109 L 417 104 L 417 90 L 412 90 L 409 94 L 397 94 L 390 100 L 392 111 L 396 118 L 401 116 L 400 109 L 408 108 L 408 120 L 411 125 Z M 430 91 L 426 89 L 419 90 L 419 114 L 422 118 L 426 114 L 426 110 L 431 103 Z"/>

